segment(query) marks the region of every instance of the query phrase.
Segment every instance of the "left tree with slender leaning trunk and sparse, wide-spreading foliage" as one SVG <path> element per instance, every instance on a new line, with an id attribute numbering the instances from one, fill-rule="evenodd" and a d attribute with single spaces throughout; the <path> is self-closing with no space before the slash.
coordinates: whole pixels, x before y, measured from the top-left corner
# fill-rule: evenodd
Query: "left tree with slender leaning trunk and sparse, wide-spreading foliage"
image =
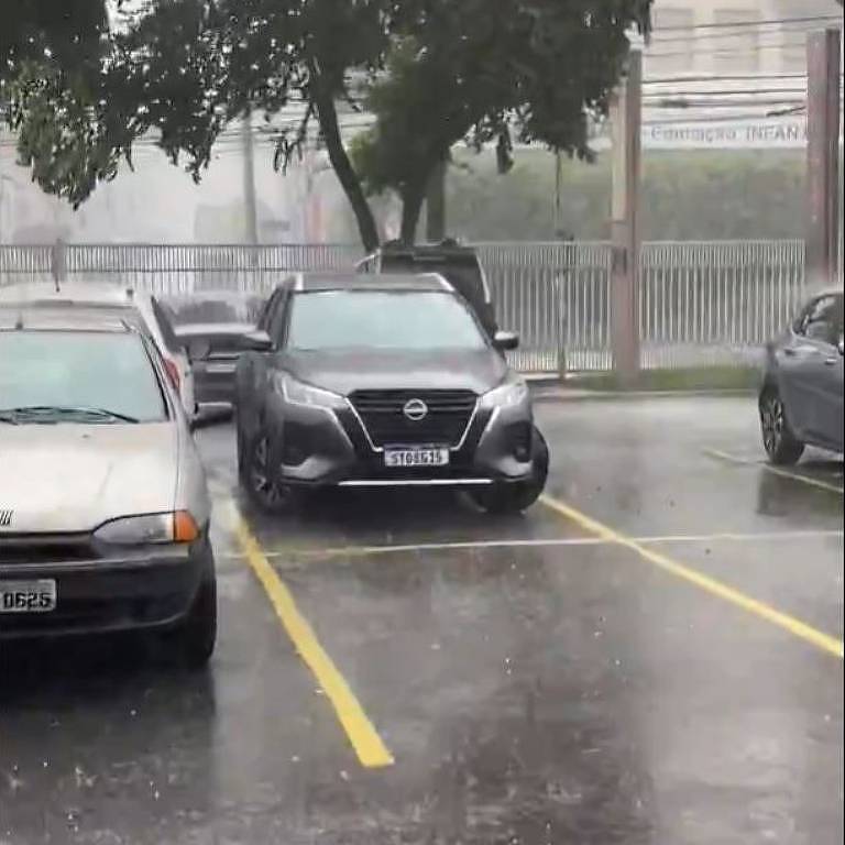
<path id="1" fill-rule="evenodd" d="M 151 130 L 195 179 L 227 124 L 304 105 L 293 132 L 277 135 L 276 162 L 301 150 L 317 119 L 331 163 L 367 248 L 377 229 L 347 155 L 337 102 L 348 72 L 375 68 L 387 46 L 389 0 L 150 0 L 145 13 L 109 40 L 96 73 L 68 85 L 51 61 L 19 67 L 11 122 L 19 151 L 48 193 L 83 202 L 134 142 Z"/>

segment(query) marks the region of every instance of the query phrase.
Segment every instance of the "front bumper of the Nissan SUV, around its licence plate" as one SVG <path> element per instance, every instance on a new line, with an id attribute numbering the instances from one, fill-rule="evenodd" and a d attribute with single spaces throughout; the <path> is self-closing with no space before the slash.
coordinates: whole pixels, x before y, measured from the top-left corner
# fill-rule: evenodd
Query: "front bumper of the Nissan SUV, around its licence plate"
<path id="1" fill-rule="evenodd" d="M 534 421 L 528 400 L 500 408 L 486 408 L 479 403 L 460 441 L 449 447 L 449 464 L 413 469 L 385 465 L 385 449 L 374 445 L 351 404 L 337 409 L 304 407 L 285 403 L 277 395 L 274 402 L 278 406 L 271 409 L 268 417 L 283 421 L 271 426 L 271 460 L 279 468 L 285 484 L 472 487 L 520 482 L 534 473 Z M 522 449 L 516 445 L 522 445 Z"/>

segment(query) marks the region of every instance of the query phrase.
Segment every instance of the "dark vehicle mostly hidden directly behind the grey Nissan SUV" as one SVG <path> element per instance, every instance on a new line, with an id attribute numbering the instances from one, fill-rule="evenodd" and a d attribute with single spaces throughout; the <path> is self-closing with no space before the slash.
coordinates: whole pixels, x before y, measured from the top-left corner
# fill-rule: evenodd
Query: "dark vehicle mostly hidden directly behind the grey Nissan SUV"
<path id="1" fill-rule="evenodd" d="M 391 241 L 358 264 L 359 273 L 441 275 L 471 306 L 492 339 L 498 327 L 484 268 L 478 253 L 454 240 L 408 246 Z"/>

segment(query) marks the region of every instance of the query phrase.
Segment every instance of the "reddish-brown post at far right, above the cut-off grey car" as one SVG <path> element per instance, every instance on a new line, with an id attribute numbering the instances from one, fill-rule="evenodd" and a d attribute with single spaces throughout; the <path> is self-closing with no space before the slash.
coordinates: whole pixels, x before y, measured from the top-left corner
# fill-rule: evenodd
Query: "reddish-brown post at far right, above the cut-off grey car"
<path id="1" fill-rule="evenodd" d="M 836 277 L 839 234 L 839 30 L 806 39 L 806 256 L 812 286 Z"/>

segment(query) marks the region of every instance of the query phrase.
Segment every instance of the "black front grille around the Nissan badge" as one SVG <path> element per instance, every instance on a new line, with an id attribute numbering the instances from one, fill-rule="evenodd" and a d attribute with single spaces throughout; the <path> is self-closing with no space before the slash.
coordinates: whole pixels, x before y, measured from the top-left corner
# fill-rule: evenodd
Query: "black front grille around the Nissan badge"
<path id="1" fill-rule="evenodd" d="M 356 391 L 349 398 L 377 447 L 456 447 L 478 402 L 472 391 Z M 403 413 L 413 399 L 428 408 L 420 420 L 408 419 Z"/>

